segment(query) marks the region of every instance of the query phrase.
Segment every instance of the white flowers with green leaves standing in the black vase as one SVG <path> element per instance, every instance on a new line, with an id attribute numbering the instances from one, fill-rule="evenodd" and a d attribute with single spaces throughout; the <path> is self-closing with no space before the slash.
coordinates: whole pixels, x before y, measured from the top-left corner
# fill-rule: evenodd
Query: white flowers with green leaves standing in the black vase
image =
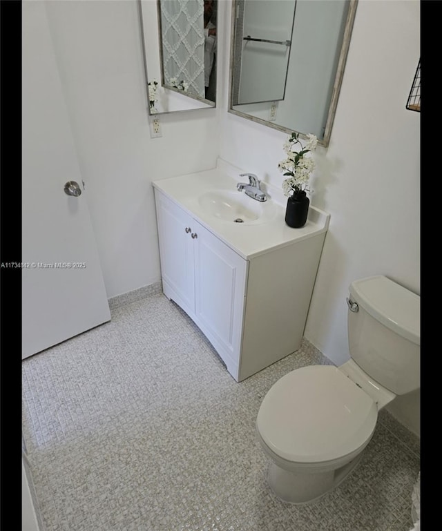
<path id="1" fill-rule="evenodd" d="M 299 139 L 299 133 L 291 133 L 291 136 L 285 141 L 282 148 L 287 153 L 287 158 L 278 163 L 279 171 L 288 175 L 287 179 L 282 181 L 282 191 L 284 195 L 297 195 L 300 192 L 309 192 L 309 178 L 311 172 L 316 167 L 315 161 L 307 155 L 315 151 L 318 139 L 315 135 L 307 135 L 308 141 L 305 146 Z M 295 151 L 296 145 L 300 145 L 300 151 Z"/>

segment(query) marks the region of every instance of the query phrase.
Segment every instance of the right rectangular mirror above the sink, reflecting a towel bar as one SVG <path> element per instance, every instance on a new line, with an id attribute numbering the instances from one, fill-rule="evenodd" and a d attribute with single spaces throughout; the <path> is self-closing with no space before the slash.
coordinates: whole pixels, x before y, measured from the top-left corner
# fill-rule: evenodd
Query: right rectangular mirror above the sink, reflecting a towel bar
<path id="1" fill-rule="evenodd" d="M 328 146 L 357 0 L 233 0 L 229 113 Z"/>

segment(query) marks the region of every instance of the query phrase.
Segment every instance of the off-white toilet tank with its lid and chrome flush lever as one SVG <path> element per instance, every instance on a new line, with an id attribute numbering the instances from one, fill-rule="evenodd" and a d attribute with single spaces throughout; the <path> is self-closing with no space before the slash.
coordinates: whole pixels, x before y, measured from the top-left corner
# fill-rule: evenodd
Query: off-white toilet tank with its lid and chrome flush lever
<path id="1" fill-rule="evenodd" d="M 349 286 L 352 360 L 396 395 L 421 387 L 421 297 L 385 276 Z"/>

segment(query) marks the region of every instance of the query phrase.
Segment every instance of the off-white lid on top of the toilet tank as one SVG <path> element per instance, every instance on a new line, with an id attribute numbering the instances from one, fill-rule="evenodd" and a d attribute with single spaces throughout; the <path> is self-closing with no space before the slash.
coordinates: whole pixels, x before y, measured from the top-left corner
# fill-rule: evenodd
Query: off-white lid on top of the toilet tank
<path id="1" fill-rule="evenodd" d="M 354 280 L 353 302 L 396 334 L 421 345 L 421 297 L 383 275 Z"/>

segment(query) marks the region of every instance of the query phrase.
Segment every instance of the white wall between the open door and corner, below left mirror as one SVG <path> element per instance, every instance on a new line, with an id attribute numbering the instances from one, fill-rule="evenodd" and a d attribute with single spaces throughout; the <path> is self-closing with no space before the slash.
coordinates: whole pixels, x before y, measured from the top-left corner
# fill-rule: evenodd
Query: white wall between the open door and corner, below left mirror
<path id="1" fill-rule="evenodd" d="M 151 139 L 135 0 L 48 2 L 109 298 L 160 280 L 151 181 L 215 166 L 217 111 L 162 115 Z"/>

